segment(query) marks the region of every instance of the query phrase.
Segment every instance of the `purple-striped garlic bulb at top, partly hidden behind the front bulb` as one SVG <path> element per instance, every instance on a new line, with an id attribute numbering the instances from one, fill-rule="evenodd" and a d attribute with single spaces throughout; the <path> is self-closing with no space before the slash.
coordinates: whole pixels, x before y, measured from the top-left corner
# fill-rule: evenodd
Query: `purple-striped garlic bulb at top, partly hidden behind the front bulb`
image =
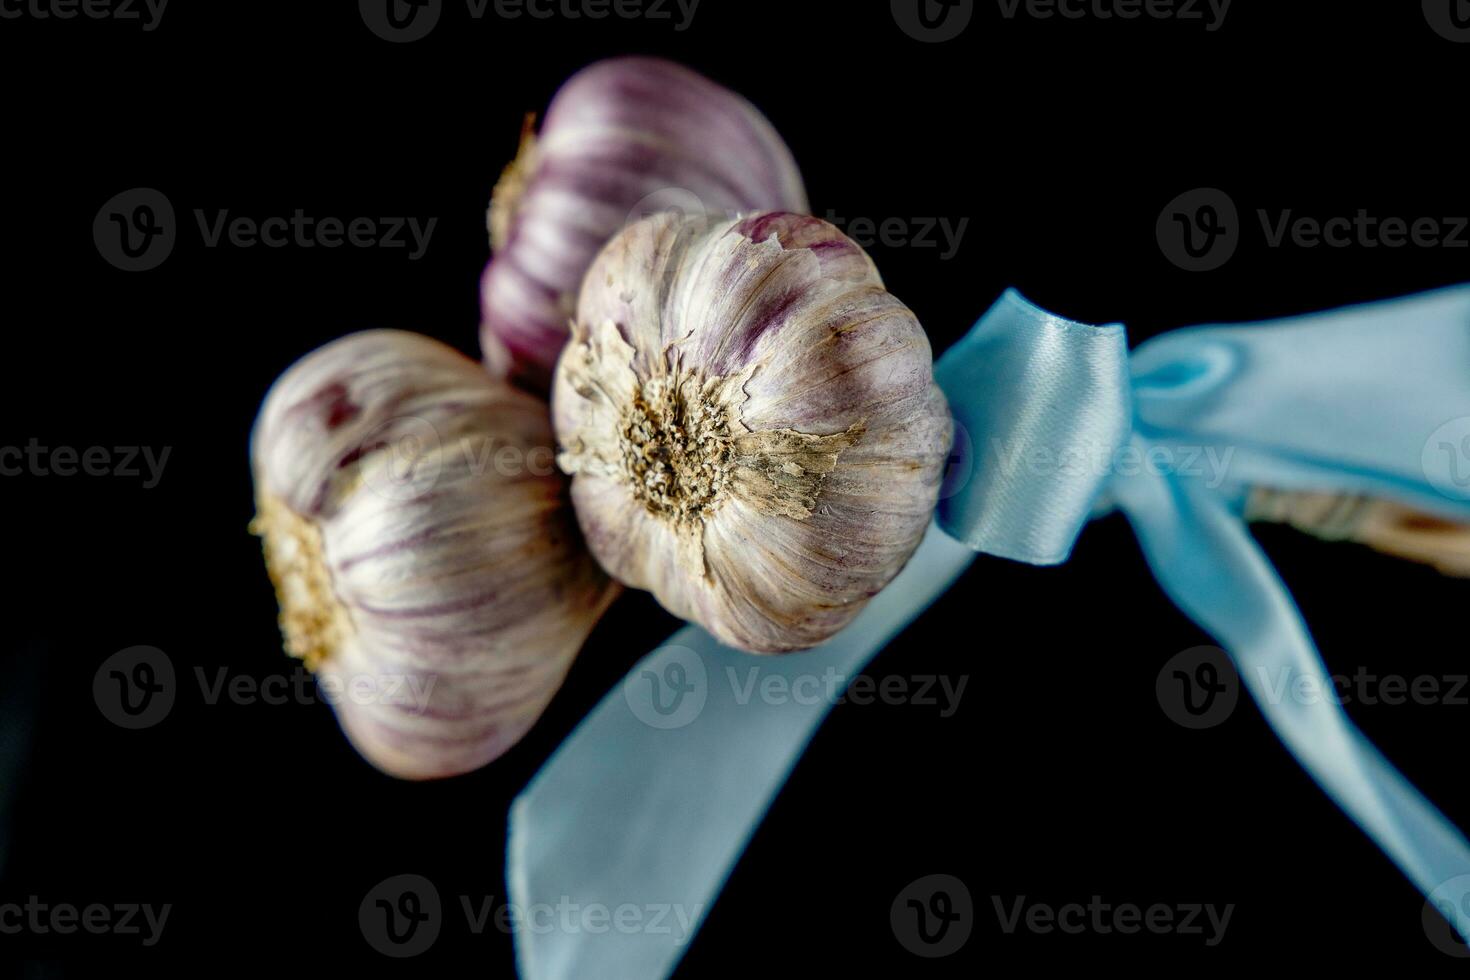
<path id="1" fill-rule="evenodd" d="M 807 210 L 791 151 L 747 100 L 672 62 L 617 57 L 566 81 L 495 185 L 481 336 L 545 391 L 582 275 L 631 219 Z"/>

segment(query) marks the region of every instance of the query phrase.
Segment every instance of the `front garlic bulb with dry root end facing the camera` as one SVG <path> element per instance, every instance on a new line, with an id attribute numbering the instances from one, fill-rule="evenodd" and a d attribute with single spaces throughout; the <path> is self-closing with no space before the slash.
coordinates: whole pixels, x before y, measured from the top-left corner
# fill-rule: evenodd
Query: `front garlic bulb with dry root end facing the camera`
<path id="1" fill-rule="evenodd" d="M 822 642 L 898 573 L 953 435 L 914 314 L 791 213 L 664 213 L 609 242 L 553 416 L 603 567 L 756 652 Z"/>

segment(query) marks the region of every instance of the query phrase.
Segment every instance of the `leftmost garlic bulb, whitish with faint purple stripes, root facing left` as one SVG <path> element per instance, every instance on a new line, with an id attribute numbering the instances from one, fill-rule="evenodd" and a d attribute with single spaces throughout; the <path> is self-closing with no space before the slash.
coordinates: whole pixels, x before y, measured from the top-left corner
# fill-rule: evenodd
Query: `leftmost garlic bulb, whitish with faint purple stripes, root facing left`
<path id="1" fill-rule="evenodd" d="M 297 361 L 251 436 L 287 651 L 348 739 L 403 779 L 504 754 L 617 586 L 556 472 L 547 406 L 417 334 Z"/>

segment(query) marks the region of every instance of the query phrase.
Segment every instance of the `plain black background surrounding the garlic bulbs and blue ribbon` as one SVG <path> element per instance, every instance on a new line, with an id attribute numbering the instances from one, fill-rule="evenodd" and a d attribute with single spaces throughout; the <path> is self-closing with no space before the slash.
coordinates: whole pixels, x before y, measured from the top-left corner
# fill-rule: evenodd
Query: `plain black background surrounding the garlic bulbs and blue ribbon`
<path id="1" fill-rule="evenodd" d="M 703 0 L 670 21 L 473 21 L 450 0 L 412 44 L 353 3 L 175 0 L 156 31 L 0 21 L 6 260 L 0 445 L 171 447 L 159 486 L 4 478 L 3 702 L 28 763 L 0 901 L 151 902 L 159 945 L 0 936 L 31 976 L 119 967 L 197 974 L 243 961 L 512 976 L 512 940 L 470 934 L 457 896 L 503 901 L 506 810 L 559 741 L 676 627 L 645 595 L 598 626 L 538 727 L 507 757 L 434 785 L 362 763 L 323 705 L 204 704 L 194 670 L 293 673 L 251 516 L 247 438 L 270 381 L 370 326 L 476 348 L 484 207 L 520 118 L 579 66 L 682 60 L 741 91 L 786 137 L 813 209 L 847 219 L 969 219 L 958 254 L 875 244 L 889 288 L 948 347 L 1007 285 L 1133 342 L 1464 281 L 1466 250 L 1269 248 L 1257 209 L 1327 217 L 1470 213 L 1470 46 L 1419 3 L 1239 0 L 1219 31 L 1185 21 L 1007 21 L 978 3 L 923 44 L 885 3 Z M 309 9 L 310 7 L 310 9 Z M 163 191 L 179 242 L 151 272 L 107 264 L 91 226 L 112 195 Z M 1197 187 L 1230 194 L 1245 239 L 1222 269 L 1161 254 L 1154 222 Z M 268 217 L 438 217 L 428 254 L 206 248 L 194 209 Z M 1291 530 L 1258 538 L 1333 671 L 1467 671 L 1464 583 Z M 873 663 L 960 674 L 933 707 L 838 707 L 691 945 L 679 976 L 973 976 L 1020 967 L 1214 973 L 1274 949 L 1324 970 L 1391 958 L 1454 970 L 1421 898 L 1302 773 L 1257 710 L 1189 732 L 1154 680 L 1208 642 L 1107 519 L 1060 569 L 982 557 Z M 125 732 L 91 698 L 103 660 L 147 644 L 184 680 L 162 724 Z M 26 664 L 34 685 L 22 686 Z M 196 693 L 190 693 L 196 692 Z M 21 708 L 25 707 L 25 710 Z M 1470 708 L 1354 707 L 1354 718 L 1460 826 Z M 450 921 L 425 956 L 373 954 L 375 883 L 434 880 Z M 911 880 L 960 877 L 969 943 L 920 959 L 888 914 Z M 1225 940 L 1005 934 L 992 896 L 1233 904 Z"/>

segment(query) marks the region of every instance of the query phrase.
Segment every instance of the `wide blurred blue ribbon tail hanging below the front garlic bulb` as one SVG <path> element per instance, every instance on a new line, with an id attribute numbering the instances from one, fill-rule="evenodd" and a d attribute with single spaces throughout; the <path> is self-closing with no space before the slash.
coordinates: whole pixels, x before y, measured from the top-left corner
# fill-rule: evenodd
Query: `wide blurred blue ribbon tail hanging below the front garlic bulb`
<path id="1" fill-rule="evenodd" d="M 908 566 L 813 651 L 754 657 L 689 626 L 645 657 L 512 805 L 520 976 L 672 974 L 832 699 L 972 561 L 931 525 Z M 764 698 L 772 677 L 831 696 Z M 606 927 L 581 927 L 589 914 Z"/>

